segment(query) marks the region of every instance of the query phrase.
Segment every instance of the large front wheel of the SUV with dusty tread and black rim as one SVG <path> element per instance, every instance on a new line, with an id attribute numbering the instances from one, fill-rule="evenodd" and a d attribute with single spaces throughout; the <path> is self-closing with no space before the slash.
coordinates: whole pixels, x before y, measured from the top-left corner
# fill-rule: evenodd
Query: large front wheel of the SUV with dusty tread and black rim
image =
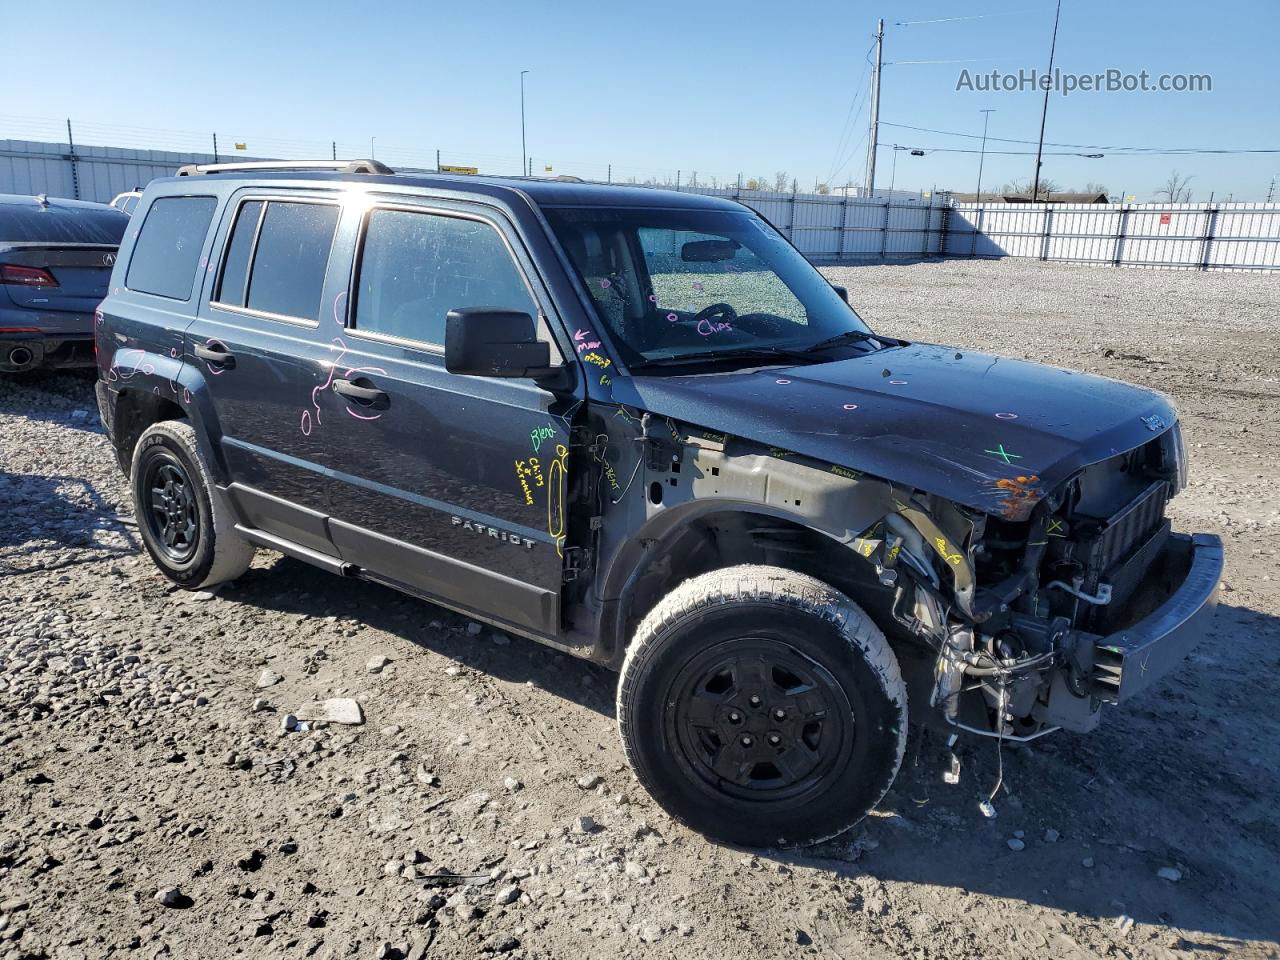
<path id="1" fill-rule="evenodd" d="M 884 635 L 840 591 L 781 567 L 713 571 L 663 598 L 627 650 L 617 716 L 649 794 L 740 846 L 849 829 L 906 745 L 906 687 Z"/>

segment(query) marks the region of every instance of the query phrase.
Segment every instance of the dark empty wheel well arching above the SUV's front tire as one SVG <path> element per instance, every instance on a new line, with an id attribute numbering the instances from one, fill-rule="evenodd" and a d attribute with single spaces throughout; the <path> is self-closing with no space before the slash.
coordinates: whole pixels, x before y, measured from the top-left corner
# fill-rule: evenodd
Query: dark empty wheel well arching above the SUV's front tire
<path id="1" fill-rule="evenodd" d="M 795 521 L 726 511 L 698 517 L 664 538 L 627 581 L 618 617 L 617 654 L 658 602 L 690 577 L 740 563 L 808 573 L 842 591 L 882 623 L 891 594 L 870 564 L 846 544 Z M 891 620 L 891 618 L 890 618 Z"/>

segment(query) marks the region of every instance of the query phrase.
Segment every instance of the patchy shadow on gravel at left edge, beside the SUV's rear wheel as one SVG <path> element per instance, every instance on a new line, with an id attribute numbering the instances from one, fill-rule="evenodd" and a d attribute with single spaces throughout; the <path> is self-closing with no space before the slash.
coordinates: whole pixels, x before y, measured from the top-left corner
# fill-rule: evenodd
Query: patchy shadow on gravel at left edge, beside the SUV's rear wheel
<path id="1" fill-rule="evenodd" d="M 138 552 L 91 483 L 78 476 L 0 470 L 0 575 L 60 570 Z"/>

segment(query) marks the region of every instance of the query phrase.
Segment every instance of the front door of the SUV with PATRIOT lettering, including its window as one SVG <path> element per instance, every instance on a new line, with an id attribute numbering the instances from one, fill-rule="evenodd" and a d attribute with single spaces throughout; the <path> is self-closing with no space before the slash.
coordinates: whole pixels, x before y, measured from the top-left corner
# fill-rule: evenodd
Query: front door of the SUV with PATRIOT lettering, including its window
<path id="1" fill-rule="evenodd" d="M 332 453 L 329 531 L 343 561 L 554 636 L 573 398 L 444 369 L 449 310 L 543 315 L 517 250 L 495 214 L 365 211 L 316 431 Z"/>

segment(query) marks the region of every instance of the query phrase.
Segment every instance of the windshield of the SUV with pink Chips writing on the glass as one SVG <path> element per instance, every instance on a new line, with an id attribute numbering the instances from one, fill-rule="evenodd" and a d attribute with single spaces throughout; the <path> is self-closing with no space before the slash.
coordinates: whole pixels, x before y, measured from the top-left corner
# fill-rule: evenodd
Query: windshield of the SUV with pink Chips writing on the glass
<path id="1" fill-rule="evenodd" d="M 867 325 L 750 211 L 545 210 L 628 366 L 801 351 Z"/>

